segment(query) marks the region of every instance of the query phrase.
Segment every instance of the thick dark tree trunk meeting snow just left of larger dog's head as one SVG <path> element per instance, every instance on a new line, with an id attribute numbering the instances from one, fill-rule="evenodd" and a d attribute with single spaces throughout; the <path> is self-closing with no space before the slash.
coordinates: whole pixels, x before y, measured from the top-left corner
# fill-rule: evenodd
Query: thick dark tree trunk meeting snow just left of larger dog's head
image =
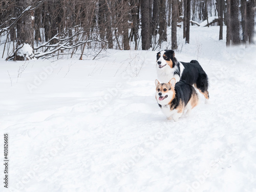
<path id="1" fill-rule="evenodd" d="M 141 0 L 142 50 L 150 49 L 150 0 Z"/>

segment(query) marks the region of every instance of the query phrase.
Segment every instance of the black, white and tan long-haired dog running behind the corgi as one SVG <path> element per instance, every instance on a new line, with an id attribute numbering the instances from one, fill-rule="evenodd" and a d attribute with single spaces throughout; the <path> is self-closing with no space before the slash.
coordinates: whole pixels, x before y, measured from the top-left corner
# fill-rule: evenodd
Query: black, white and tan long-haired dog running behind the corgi
<path id="1" fill-rule="evenodd" d="M 209 99 L 208 77 L 197 60 L 179 62 L 173 50 L 164 50 L 157 53 L 157 65 L 157 76 L 161 82 L 167 83 L 172 78 L 176 82 L 185 80 Z"/>

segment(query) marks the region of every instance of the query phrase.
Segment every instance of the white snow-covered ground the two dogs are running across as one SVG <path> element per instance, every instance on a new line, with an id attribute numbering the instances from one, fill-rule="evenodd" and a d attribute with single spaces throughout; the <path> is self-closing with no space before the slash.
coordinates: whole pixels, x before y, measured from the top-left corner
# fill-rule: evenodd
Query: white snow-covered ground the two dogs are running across
<path id="1" fill-rule="evenodd" d="M 201 96 L 178 122 L 166 120 L 155 99 L 159 50 L 1 59 L 9 191 L 255 192 L 256 48 L 226 49 L 218 27 L 197 26 L 183 45 L 181 30 L 176 57 L 199 60 L 210 101 Z"/>

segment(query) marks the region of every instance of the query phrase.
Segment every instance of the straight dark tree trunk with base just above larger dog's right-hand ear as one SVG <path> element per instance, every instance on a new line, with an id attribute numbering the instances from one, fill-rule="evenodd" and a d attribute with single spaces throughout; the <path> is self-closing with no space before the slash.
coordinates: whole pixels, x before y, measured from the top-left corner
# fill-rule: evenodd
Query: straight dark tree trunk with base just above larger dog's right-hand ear
<path id="1" fill-rule="evenodd" d="M 172 1 L 172 49 L 177 49 L 178 0 Z"/>

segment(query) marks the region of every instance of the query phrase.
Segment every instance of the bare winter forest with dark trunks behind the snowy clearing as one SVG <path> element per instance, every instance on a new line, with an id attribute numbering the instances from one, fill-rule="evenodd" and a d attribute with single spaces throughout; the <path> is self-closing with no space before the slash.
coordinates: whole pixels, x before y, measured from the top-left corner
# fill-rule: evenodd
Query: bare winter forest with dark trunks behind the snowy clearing
<path id="1" fill-rule="evenodd" d="M 226 35 L 226 46 L 252 44 L 255 5 L 255 0 L 3 0 L 0 44 L 6 60 L 59 54 L 82 59 L 85 49 L 160 49 L 171 27 L 175 50 L 177 27 L 189 44 L 190 26 L 201 24 L 220 26 L 219 39 Z M 20 51 L 25 47 L 31 47 L 26 56 Z"/>

